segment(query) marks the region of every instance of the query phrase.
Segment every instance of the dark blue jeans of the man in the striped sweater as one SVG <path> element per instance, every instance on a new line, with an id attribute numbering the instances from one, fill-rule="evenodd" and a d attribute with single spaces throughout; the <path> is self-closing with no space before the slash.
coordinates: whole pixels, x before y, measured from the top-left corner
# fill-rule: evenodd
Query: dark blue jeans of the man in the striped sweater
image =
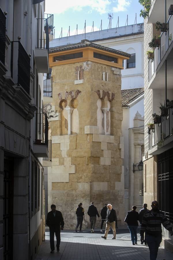
<path id="1" fill-rule="evenodd" d="M 162 235 L 154 237 L 152 235 L 146 235 L 146 242 L 150 250 L 150 260 L 156 260 L 159 245 L 162 240 Z"/>

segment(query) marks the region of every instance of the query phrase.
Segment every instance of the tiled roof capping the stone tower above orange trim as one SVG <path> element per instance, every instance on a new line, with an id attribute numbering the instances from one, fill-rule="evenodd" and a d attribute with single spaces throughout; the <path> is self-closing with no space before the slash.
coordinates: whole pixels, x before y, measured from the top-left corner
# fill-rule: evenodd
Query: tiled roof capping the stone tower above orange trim
<path id="1" fill-rule="evenodd" d="M 59 51 L 68 51 L 68 50 L 73 50 L 73 49 L 80 49 L 80 48 L 84 48 L 84 47 L 93 47 L 95 49 L 100 49 L 100 50 L 103 50 L 103 51 L 109 51 L 111 53 L 119 54 L 119 55 L 122 55 L 122 56 L 125 56 L 125 57 L 129 57 L 129 58 L 131 57 L 131 54 L 129 54 L 129 53 L 126 53 L 126 52 L 123 52 L 123 51 L 117 51 L 115 49 L 108 48 L 108 47 L 104 47 L 104 46 L 101 46 L 99 44 L 92 43 L 89 40 L 82 40 L 79 43 L 53 47 L 53 48 L 49 49 L 49 53 L 59 52 Z"/>

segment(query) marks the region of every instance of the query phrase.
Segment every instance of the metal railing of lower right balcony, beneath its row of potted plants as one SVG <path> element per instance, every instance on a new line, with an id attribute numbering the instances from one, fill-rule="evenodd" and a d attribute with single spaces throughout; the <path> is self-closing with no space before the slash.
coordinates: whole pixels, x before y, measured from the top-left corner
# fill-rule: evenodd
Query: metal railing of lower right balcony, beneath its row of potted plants
<path id="1" fill-rule="evenodd" d="M 154 133 L 154 145 L 173 134 L 173 108 L 169 108 L 168 111 L 168 116 L 161 116 L 161 123 L 154 124 L 154 130 L 150 131 L 149 148 L 152 147 L 152 133 Z"/>

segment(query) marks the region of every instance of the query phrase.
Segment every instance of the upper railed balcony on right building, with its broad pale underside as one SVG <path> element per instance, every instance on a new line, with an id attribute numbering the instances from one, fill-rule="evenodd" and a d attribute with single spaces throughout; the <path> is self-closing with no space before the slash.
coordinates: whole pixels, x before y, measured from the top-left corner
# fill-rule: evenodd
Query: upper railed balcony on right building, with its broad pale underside
<path id="1" fill-rule="evenodd" d="M 168 31 L 162 32 L 160 45 L 154 50 L 153 60 L 148 62 L 148 87 L 150 89 L 161 89 L 165 86 L 167 73 L 167 88 L 172 88 L 173 70 L 173 15 L 168 19 Z M 167 68 L 166 63 L 167 62 Z"/>

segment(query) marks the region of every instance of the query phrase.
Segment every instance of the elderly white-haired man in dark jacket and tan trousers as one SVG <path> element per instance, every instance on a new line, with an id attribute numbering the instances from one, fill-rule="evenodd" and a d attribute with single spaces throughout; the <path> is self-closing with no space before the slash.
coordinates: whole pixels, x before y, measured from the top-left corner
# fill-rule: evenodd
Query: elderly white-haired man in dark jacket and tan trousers
<path id="1" fill-rule="evenodd" d="M 112 239 L 116 239 L 116 229 L 115 229 L 115 221 L 116 221 L 116 211 L 112 208 L 111 204 L 108 204 L 108 210 L 106 213 L 106 229 L 104 236 L 101 236 L 102 238 L 106 239 L 110 227 L 112 227 L 113 230 L 113 237 Z"/>

